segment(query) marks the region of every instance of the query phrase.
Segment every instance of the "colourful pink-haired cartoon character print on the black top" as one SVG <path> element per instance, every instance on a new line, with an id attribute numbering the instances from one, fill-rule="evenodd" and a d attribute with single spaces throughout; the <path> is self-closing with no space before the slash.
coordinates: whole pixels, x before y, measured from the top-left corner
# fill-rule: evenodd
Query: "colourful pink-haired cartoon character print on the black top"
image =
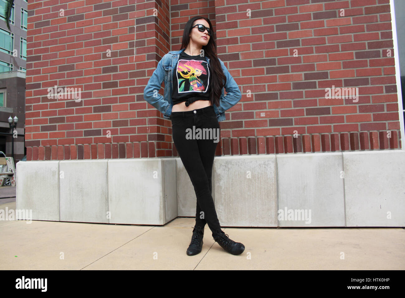
<path id="1" fill-rule="evenodd" d="M 204 85 L 207 85 L 208 83 L 208 73 L 203 66 L 203 62 L 204 61 L 198 60 L 179 60 L 177 65 L 177 73 L 181 76 L 181 78 L 177 76 L 179 92 L 204 92 L 207 89 L 207 86 Z M 202 74 L 207 75 L 207 77 L 202 79 L 200 77 Z M 184 90 L 187 80 L 190 87 L 189 90 Z"/>

